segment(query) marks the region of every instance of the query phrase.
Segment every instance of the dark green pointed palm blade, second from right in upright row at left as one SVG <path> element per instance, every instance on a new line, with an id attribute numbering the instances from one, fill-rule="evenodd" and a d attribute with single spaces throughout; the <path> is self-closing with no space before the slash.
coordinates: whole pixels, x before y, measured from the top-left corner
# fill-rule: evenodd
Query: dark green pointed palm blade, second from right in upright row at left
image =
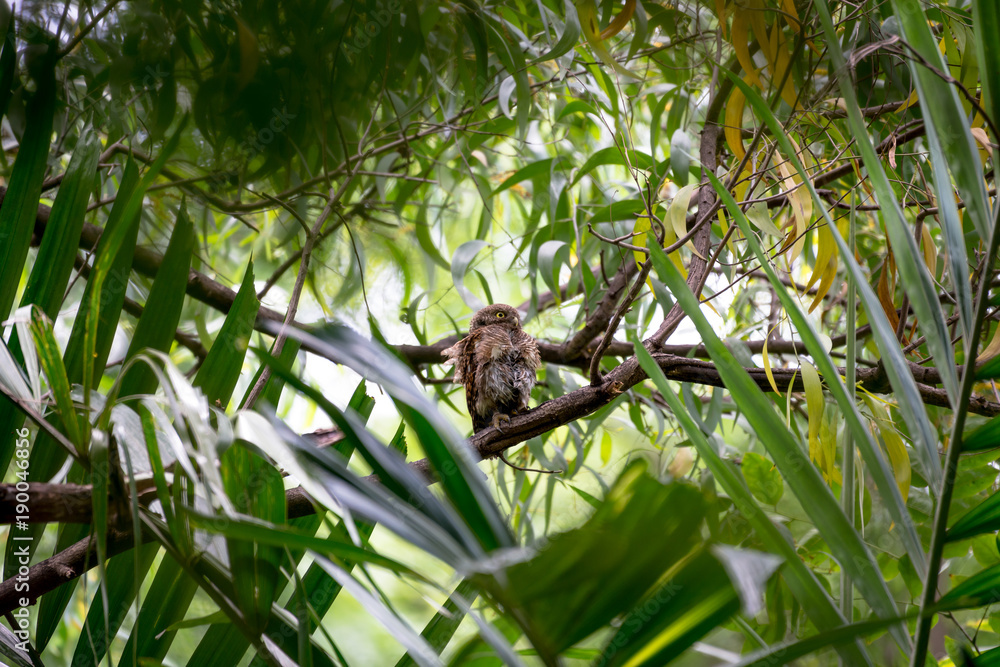
<path id="1" fill-rule="evenodd" d="M 170 235 L 170 244 L 149 290 L 145 308 L 132 335 L 126 362 L 142 350 L 169 352 L 174 333 L 184 307 L 191 255 L 194 252 L 194 227 L 184 204 L 177 213 L 177 224 Z M 149 394 L 156 388 L 156 374 L 146 364 L 133 364 L 125 372 L 118 390 L 120 396 Z"/>

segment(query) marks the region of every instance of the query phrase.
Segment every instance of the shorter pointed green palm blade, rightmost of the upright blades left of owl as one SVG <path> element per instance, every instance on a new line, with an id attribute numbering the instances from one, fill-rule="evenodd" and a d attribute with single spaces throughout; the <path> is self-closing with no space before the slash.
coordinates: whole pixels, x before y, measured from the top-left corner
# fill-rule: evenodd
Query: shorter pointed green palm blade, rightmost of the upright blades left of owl
<path id="1" fill-rule="evenodd" d="M 208 351 L 205 362 L 194 378 L 194 386 L 200 387 L 209 402 L 223 410 L 229 405 L 229 399 L 232 398 L 236 382 L 243 371 L 243 360 L 246 358 L 247 344 L 253 333 L 258 310 L 260 301 L 254 291 L 251 261 L 247 264 L 243 283 L 226 315 L 226 321 L 222 323 L 212 349 Z"/>

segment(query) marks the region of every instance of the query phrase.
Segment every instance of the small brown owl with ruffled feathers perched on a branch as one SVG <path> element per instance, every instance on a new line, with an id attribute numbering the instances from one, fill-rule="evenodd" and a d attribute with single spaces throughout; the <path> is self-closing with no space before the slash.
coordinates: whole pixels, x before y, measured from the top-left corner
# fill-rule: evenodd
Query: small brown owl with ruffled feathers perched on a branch
<path id="1" fill-rule="evenodd" d="M 469 324 L 469 335 L 443 353 L 454 364 L 455 382 L 465 385 L 472 430 L 499 429 L 510 416 L 528 409 L 538 344 L 521 328 L 517 310 L 502 303 L 486 306 Z"/>

